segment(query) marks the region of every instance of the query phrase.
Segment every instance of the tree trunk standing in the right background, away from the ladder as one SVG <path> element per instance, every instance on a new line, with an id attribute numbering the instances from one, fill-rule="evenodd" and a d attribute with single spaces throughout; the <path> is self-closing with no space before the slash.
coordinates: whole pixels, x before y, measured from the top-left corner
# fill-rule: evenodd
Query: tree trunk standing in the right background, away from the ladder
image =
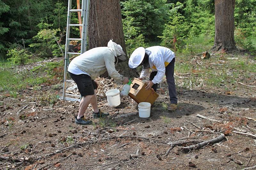
<path id="1" fill-rule="evenodd" d="M 214 51 L 236 49 L 234 9 L 235 0 L 215 0 Z"/>

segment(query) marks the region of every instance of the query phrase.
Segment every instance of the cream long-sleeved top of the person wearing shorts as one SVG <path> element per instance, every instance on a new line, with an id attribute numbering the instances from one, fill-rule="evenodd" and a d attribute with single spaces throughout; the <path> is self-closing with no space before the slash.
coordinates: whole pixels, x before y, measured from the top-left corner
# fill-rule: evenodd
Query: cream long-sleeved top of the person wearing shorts
<path id="1" fill-rule="evenodd" d="M 73 66 L 80 69 L 81 74 L 88 74 L 92 79 L 108 71 L 108 75 L 113 79 L 124 81 L 124 76 L 116 71 L 115 55 L 110 47 L 96 47 L 86 51 L 70 62 L 68 71 L 71 73 L 74 70 Z"/>

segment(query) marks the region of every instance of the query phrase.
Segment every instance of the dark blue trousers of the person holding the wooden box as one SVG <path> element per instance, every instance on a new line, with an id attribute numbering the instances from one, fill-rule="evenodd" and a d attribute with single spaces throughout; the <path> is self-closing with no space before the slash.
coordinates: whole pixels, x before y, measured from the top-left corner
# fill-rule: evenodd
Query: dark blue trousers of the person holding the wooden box
<path id="1" fill-rule="evenodd" d="M 168 84 L 168 91 L 170 96 L 171 103 L 177 104 L 178 98 L 176 97 L 176 87 L 175 87 L 175 81 L 174 81 L 174 63 L 175 58 L 172 59 L 172 61 L 168 64 L 168 66 L 165 67 L 165 76 L 166 81 Z M 152 71 L 149 80 L 152 81 L 154 77 L 156 76 L 157 71 Z M 154 84 L 152 88 L 156 91 L 158 83 Z"/>

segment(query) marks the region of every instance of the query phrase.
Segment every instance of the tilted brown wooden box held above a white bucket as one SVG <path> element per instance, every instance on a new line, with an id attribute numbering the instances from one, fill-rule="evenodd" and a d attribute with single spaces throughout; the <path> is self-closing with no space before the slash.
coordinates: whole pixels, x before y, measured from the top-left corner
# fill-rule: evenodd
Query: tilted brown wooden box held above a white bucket
<path id="1" fill-rule="evenodd" d="M 146 86 L 147 84 L 145 82 L 134 78 L 131 84 L 129 96 L 137 103 L 148 102 L 152 105 L 158 97 L 158 94 L 156 94 L 152 88 L 146 90 Z"/>

